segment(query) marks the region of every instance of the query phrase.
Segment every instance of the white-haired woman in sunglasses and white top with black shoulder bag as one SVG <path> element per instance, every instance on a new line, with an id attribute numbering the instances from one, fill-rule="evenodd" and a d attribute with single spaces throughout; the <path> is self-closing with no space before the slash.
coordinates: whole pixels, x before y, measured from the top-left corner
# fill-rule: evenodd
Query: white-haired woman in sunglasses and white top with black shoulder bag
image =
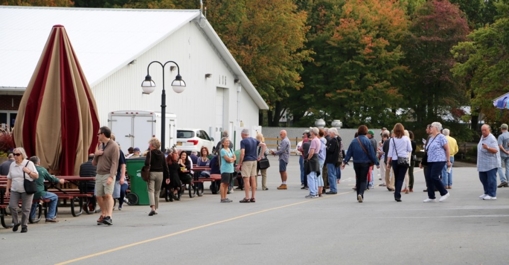
<path id="1" fill-rule="evenodd" d="M 28 231 L 27 224 L 29 222 L 30 210 L 32 208 L 32 199 L 34 194 L 26 194 L 24 188 L 24 180 L 34 181 L 39 178 L 39 173 L 35 168 L 34 162 L 27 160 L 25 150 L 16 148 L 12 151 L 14 162 L 9 167 L 7 174 L 7 187 L 5 196 L 11 196 L 9 201 L 9 209 L 12 215 L 12 231 L 16 232 L 21 225 L 21 232 Z M 21 222 L 18 218 L 18 203 L 21 200 Z"/>

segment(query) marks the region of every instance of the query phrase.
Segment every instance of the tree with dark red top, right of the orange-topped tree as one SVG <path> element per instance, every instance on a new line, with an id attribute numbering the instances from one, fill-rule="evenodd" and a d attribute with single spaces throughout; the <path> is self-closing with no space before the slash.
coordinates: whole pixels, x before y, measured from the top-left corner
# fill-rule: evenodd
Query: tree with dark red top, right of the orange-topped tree
<path id="1" fill-rule="evenodd" d="M 450 72 L 450 49 L 466 40 L 468 31 L 463 12 L 447 1 L 429 1 L 415 12 L 404 46 L 412 71 L 404 95 L 419 123 L 441 121 L 467 103 L 464 86 Z"/>

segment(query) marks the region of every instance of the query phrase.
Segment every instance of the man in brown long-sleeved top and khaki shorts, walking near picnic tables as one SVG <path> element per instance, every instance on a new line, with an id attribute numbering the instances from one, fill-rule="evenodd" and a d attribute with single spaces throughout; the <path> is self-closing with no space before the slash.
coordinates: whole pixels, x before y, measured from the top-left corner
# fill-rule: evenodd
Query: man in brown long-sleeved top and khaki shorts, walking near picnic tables
<path id="1" fill-rule="evenodd" d="M 92 160 L 92 164 L 97 165 L 95 195 L 101 208 L 101 216 L 97 220 L 97 225 L 112 225 L 113 197 L 111 195 L 115 187 L 120 149 L 119 145 L 110 138 L 111 130 L 108 127 L 99 128 L 97 137 L 99 146 L 95 153 L 96 156 Z"/>

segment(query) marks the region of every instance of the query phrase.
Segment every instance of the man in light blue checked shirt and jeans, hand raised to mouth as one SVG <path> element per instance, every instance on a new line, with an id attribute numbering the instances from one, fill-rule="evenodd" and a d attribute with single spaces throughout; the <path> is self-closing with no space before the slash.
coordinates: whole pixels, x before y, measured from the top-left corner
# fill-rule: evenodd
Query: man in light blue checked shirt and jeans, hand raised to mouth
<path id="1" fill-rule="evenodd" d="M 484 193 L 479 196 L 483 200 L 497 199 L 497 170 L 500 167 L 498 142 L 491 134 L 491 128 L 485 124 L 480 128 L 483 133 L 477 144 L 477 171 Z"/>

